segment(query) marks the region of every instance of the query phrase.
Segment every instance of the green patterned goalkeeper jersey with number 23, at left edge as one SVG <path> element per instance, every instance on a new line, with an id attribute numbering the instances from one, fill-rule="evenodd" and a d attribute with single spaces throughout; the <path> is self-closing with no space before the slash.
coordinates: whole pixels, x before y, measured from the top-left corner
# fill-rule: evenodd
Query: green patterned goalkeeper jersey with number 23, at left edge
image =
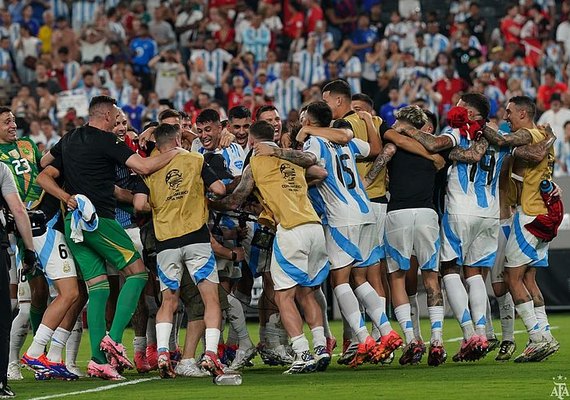
<path id="1" fill-rule="evenodd" d="M 12 171 L 20 198 L 30 209 L 36 206 L 42 195 L 42 188 L 36 182 L 41 158 L 42 153 L 28 138 L 0 143 L 0 161 Z"/>

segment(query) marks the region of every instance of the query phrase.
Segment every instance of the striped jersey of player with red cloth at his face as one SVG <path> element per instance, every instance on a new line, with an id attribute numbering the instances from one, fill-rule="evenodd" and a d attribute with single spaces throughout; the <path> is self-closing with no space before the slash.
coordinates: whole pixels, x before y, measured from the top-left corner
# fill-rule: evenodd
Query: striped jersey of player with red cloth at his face
<path id="1" fill-rule="evenodd" d="M 449 136 L 454 146 L 467 149 L 472 141 L 461 136 L 458 129 L 446 128 L 442 135 Z M 490 145 L 478 163 L 455 161 L 449 169 L 446 209 L 449 214 L 499 218 L 499 174 L 507 147 Z"/>

